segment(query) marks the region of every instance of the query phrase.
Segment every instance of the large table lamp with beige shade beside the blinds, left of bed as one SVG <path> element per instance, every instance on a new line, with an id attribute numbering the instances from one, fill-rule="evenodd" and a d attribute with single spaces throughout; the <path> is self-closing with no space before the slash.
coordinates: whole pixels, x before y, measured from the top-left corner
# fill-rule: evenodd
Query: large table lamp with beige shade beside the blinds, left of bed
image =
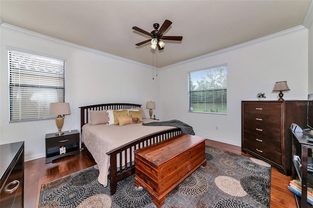
<path id="1" fill-rule="evenodd" d="M 55 135 L 63 135 L 64 132 L 62 132 L 62 127 L 64 124 L 64 118 L 61 115 L 69 115 L 70 109 L 69 109 L 69 103 L 50 103 L 50 116 L 57 116 L 55 118 L 55 123 L 59 129 Z"/>

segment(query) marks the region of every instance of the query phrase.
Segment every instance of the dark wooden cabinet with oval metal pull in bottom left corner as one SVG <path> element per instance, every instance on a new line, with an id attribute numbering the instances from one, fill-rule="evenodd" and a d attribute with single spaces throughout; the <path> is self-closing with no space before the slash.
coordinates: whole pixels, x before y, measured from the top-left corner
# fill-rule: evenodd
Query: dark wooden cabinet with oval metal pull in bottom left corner
<path id="1" fill-rule="evenodd" d="M 24 207 L 24 142 L 0 145 L 0 208 Z"/>

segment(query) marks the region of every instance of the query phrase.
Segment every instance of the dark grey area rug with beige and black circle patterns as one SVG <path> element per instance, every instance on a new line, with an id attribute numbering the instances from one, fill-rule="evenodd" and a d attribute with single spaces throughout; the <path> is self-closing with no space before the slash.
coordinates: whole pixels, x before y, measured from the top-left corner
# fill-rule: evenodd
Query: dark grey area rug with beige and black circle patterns
<path id="1" fill-rule="evenodd" d="M 270 165 L 214 147 L 205 147 L 207 165 L 199 167 L 165 198 L 163 208 L 268 208 Z M 152 197 L 134 186 L 134 175 L 110 185 L 97 181 L 89 167 L 41 187 L 39 208 L 155 208 Z"/>

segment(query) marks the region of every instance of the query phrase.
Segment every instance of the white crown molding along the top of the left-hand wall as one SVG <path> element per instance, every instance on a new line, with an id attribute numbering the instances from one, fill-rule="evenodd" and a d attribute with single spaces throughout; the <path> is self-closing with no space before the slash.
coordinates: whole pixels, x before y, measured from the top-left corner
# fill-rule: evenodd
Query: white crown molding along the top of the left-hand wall
<path id="1" fill-rule="evenodd" d="M 10 31 L 13 31 L 13 32 L 16 32 L 16 33 L 20 33 L 22 35 L 26 35 L 26 36 L 33 37 L 33 38 L 38 38 L 38 39 L 41 39 L 41 40 L 44 40 L 44 41 L 48 41 L 48 42 L 64 44 L 64 45 L 75 47 L 75 48 L 78 48 L 78 49 L 81 49 L 81 50 L 85 50 L 85 51 L 88 51 L 88 52 L 91 52 L 91 53 L 96 53 L 96 54 L 100 54 L 100 55 L 103 55 L 103 56 L 106 56 L 106 57 L 109 57 L 109 58 L 117 59 L 119 61 L 131 62 L 131 63 L 134 63 L 134 64 L 138 64 L 138 65 L 142 65 L 142 66 L 145 66 L 145 67 L 149 67 L 149 68 L 151 67 L 151 65 L 148 65 L 148 64 L 145 64 L 145 63 L 135 62 L 133 60 L 126 59 L 126 58 L 123 58 L 123 57 L 120 57 L 120 56 L 115 56 L 115 55 L 112 55 L 110 53 L 106 53 L 106 52 L 103 52 L 103 51 L 95 50 L 95 49 L 92 49 L 92 48 L 89 48 L 89 47 L 85 47 L 85 46 L 82 46 L 82 45 L 78 45 L 78 44 L 75 44 L 75 43 L 72 43 L 72 42 L 62 41 L 60 39 L 52 38 L 50 36 L 46 36 L 46 35 L 43 35 L 41 33 L 36 33 L 36 32 L 30 31 L 30 30 L 23 29 L 21 27 L 17 27 L 17 26 L 13 26 L 11 24 L 3 23 L 1 21 L 1 19 L 0 19 L 0 22 L 1 22 L 1 24 L 0 24 L 0 28 L 1 29 L 10 30 Z"/>

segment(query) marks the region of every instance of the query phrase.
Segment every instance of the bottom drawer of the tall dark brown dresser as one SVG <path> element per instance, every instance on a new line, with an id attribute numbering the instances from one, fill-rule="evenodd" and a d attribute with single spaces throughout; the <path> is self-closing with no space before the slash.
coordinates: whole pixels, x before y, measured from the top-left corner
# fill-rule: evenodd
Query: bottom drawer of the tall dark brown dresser
<path id="1" fill-rule="evenodd" d="M 245 140 L 244 143 L 244 148 L 246 148 L 247 150 L 258 154 L 263 158 L 266 158 L 273 163 L 276 163 L 277 165 L 282 165 L 282 154 L 279 152 L 275 152 L 271 148 L 269 148 L 270 144 L 268 146 L 258 146 L 258 143 L 250 140 Z"/>

